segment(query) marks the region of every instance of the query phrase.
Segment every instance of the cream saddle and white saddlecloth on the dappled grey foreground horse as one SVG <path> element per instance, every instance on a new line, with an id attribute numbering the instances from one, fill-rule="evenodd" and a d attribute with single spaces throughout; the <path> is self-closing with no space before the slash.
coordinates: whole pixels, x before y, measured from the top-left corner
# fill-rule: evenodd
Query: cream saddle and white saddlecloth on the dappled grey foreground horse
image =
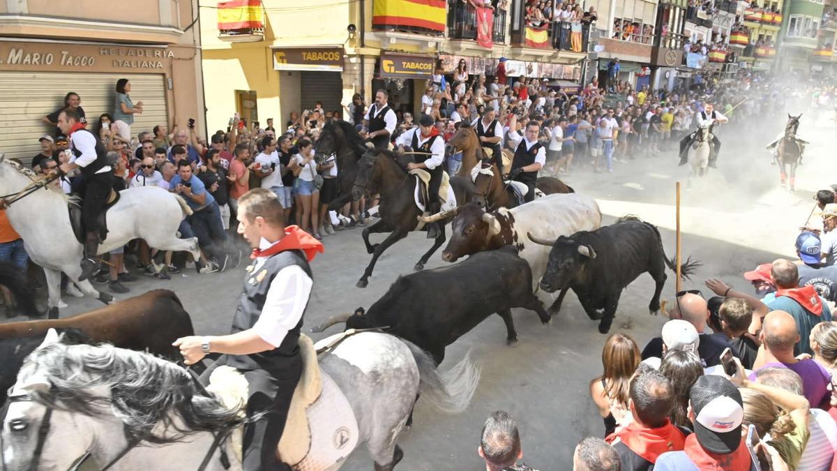
<path id="1" fill-rule="evenodd" d="M 320 370 L 311 338 L 300 334 L 299 347 L 302 375 L 290 400 L 277 456 L 295 468 L 325 469 L 345 459 L 357 446 L 357 419 L 334 380 Z M 242 415 L 248 389 L 244 375 L 230 366 L 216 368 L 207 387 L 224 406 L 240 407 Z M 243 427 L 233 433 L 232 439 L 240 460 Z"/>

